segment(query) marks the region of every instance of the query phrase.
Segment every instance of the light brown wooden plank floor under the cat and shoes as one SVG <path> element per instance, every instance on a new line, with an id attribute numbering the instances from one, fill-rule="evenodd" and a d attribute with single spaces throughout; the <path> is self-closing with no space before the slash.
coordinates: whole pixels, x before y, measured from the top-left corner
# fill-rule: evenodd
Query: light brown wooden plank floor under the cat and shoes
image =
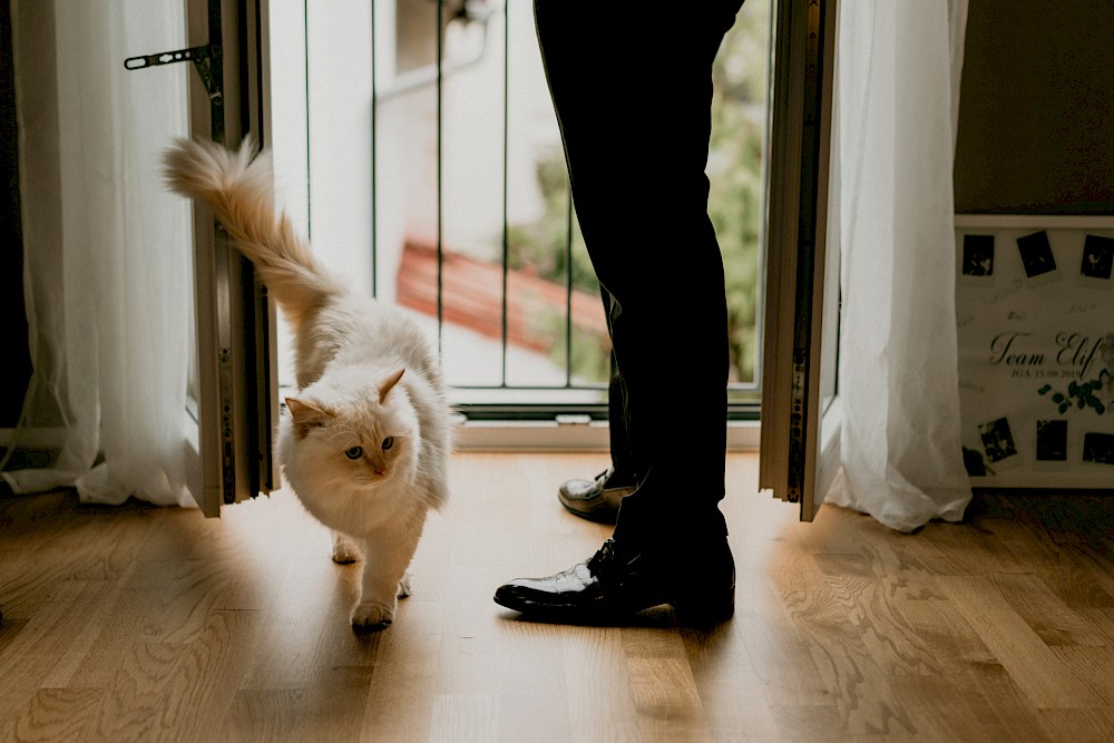
<path id="1" fill-rule="evenodd" d="M 289 493 L 211 520 L 2 500 L 0 741 L 1114 740 L 1108 500 L 980 498 L 911 536 L 831 506 L 800 524 L 740 454 L 731 623 L 494 604 L 608 536 L 554 496 L 604 465 L 458 456 L 414 595 L 368 637 L 348 625 L 359 567 Z"/>

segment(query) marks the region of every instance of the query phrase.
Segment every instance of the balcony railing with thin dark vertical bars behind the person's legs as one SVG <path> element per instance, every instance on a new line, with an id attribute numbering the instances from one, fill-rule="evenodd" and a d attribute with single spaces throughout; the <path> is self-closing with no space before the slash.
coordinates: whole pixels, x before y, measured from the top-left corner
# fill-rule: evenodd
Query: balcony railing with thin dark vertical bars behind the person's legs
<path id="1" fill-rule="evenodd" d="M 732 305 L 731 412 L 751 419 L 762 371 L 769 6 L 749 0 L 721 50 L 709 164 Z M 309 2 L 305 13 L 309 29 Z M 606 325 L 532 3 L 372 0 L 369 21 L 370 291 L 428 319 L 469 419 L 605 419 Z M 314 53 L 307 30 L 307 69 Z M 314 137 L 329 138 L 315 127 L 314 85 L 323 84 L 307 71 L 307 160 Z M 306 167 L 311 189 L 326 183 Z"/>

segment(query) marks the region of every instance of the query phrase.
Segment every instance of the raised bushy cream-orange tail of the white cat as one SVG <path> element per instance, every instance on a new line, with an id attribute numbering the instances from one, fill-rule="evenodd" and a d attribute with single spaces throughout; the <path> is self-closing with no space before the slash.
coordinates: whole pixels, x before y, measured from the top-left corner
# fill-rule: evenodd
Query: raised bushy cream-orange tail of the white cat
<path id="1" fill-rule="evenodd" d="M 174 190 L 213 208 L 295 325 L 341 293 L 286 214 L 275 209 L 271 155 L 260 154 L 254 139 L 245 138 L 238 150 L 231 150 L 179 138 L 164 151 L 163 165 Z"/>

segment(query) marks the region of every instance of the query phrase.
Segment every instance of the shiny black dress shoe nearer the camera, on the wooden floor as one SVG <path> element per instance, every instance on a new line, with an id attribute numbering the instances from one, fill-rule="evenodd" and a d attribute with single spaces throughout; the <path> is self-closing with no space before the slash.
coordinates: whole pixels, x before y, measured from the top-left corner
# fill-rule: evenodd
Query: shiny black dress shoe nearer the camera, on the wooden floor
<path id="1" fill-rule="evenodd" d="M 724 622 L 735 610 L 735 564 L 726 539 L 700 555 L 654 557 L 623 550 L 614 539 L 588 560 L 546 578 L 518 578 L 496 589 L 495 603 L 540 619 L 610 623 L 654 606 L 673 606 L 682 624 Z"/>

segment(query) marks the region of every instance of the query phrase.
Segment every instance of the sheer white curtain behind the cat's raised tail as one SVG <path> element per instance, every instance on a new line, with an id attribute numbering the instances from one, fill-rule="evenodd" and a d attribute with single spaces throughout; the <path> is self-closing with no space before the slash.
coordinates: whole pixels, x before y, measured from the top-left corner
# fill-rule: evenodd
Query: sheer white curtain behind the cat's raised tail
<path id="1" fill-rule="evenodd" d="M 185 46 L 183 3 L 14 0 L 12 28 L 35 372 L 3 478 L 16 492 L 192 505 L 190 222 L 158 160 L 186 131 L 192 70 L 124 66 Z M 45 449 L 48 466 L 11 469 L 11 452 Z"/>

